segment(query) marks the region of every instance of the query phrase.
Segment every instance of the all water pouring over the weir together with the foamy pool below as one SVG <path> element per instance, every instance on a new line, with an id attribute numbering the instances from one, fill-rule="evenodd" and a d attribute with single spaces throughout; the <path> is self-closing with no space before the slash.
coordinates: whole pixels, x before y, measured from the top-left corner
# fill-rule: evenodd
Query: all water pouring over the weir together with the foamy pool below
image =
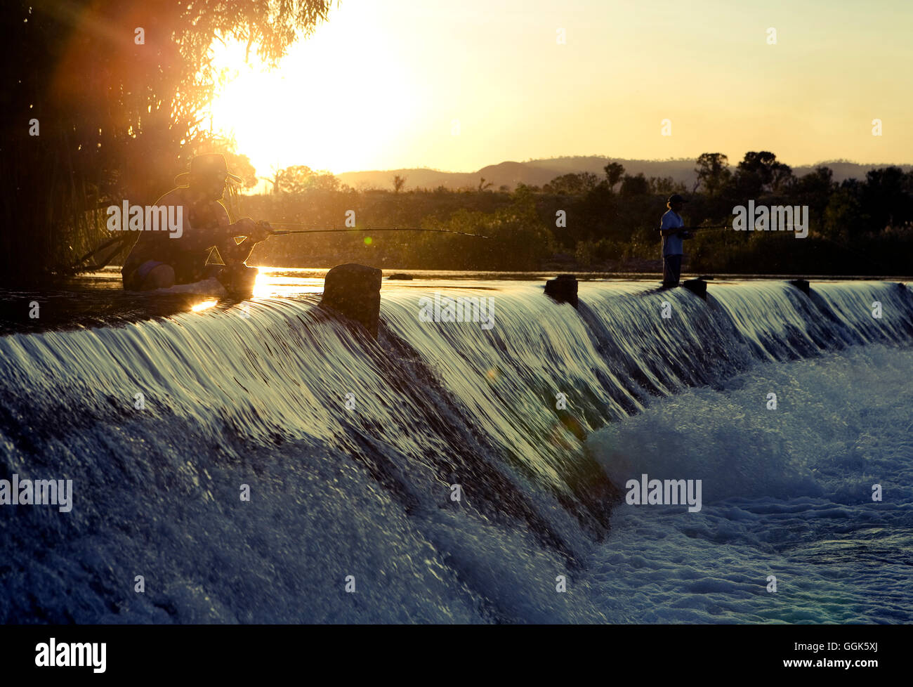
<path id="1" fill-rule="evenodd" d="M 906 287 L 385 281 L 377 342 L 306 291 L 0 338 L 0 480 L 73 485 L 0 506 L 0 621 L 913 620 Z"/>

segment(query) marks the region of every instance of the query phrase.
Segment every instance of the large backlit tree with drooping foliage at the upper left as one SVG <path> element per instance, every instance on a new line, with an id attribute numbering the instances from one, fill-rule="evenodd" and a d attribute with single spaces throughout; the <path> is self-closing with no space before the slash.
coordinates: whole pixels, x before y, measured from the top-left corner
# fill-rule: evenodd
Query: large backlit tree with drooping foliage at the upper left
<path id="1" fill-rule="evenodd" d="M 210 48 L 241 40 L 275 66 L 328 16 L 331 0 L 10 0 L 0 92 L 0 278 L 24 280 L 103 238 L 99 207 L 146 205 L 208 133 L 218 75 Z M 142 35 L 141 35 L 142 34 Z M 26 122 L 40 122 L 29 136 Z M 41 206 L 43 212 L 21 212 Z M 12 227 L 16 227 L 13 230 Z"/>

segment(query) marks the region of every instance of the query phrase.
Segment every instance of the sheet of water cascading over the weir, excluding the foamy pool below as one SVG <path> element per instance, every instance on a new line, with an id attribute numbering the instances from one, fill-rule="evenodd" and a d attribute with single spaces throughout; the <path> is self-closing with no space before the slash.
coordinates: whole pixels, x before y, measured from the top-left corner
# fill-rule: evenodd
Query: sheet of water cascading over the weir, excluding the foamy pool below
<path id="1" fill-rule="evenodd" d="M 434 291 L 492 299 L 493 326 L 422 322 Z M 895 283 L 715 283 L 704 302 L 584 282 L 580 300 L 416 280 L 385 283 L 377 342 L 309 298 L 0 338 L 0 480 L 73 485 L 68 513 L 0 507 L 0 621 L 641 619 L 609 593 L 634 598 L 612 572 L 636 546 L 618 539 L 622 473 L 659 470 L 656 442 L 690 431 L 653 414 L 787 361 L 913 343 Z M 804 486 L 768 497 L 826 492 L 786 462 Z M 708 508 L 775 480 L 730 482 Z"/>

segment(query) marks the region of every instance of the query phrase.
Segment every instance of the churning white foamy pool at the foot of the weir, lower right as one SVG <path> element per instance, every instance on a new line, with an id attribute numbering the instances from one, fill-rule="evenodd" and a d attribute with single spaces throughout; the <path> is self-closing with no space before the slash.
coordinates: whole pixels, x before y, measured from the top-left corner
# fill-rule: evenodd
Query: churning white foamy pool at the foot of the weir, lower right
<path id="1" fill-rule="evenodd" d="M 594 435 L 616 482 L 704 480 L 700 513 L 615 509 L 592 561 L 610 619 L 909 622 L 911 371 L 913 351 L 885 346 L 759 365 Z"/>

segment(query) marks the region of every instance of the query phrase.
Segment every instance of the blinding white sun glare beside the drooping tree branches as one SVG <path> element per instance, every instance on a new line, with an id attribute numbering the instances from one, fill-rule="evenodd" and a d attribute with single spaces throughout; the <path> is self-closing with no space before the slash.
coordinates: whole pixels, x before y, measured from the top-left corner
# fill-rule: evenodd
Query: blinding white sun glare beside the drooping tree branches
<path id="1" fill-rule="evenodd" d="M 242 44 L 215 45 L 228 79 L 211 103 L 213 128 L 235 137 L 259 176 L 292 164 L 376 168 L 408 135 L 417 116 L 409 70 L 359 26 L 321 25 L 271 71 L 253 54 L 246 63 Z"/>

